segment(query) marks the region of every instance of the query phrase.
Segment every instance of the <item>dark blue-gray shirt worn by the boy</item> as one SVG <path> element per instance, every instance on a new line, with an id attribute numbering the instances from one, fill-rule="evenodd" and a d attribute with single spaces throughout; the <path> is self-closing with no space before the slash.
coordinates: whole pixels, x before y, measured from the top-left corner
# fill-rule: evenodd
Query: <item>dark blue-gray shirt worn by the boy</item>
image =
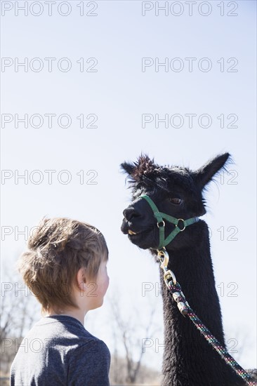
<path id="1" fill-rule="evenodd" d="M 73 317 L 44 317 L 22 340 L 11 386 L 109 386 L 110 351 Z"/>

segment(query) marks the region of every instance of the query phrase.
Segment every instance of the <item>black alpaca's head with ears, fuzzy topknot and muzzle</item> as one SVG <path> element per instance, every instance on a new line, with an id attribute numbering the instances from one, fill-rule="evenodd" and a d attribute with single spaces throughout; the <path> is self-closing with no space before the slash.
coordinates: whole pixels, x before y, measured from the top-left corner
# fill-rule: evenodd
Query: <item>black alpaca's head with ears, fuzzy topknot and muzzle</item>
<path id="1" fill-rule="evenodd" d="M 121 231 L 129 235 L 133 244 L 140 248 L 157 249 L 159 245 L 159 228 L 150 205 L 140 198 L 146 194 L 160 212 L 174 218 L 198 217 L 206 213 L 203 191 L 214 175 L 224 168 L 230 154 L 225 153 L 211 159 L 197 171 L 190 171 L 180 166 L 159 166 L 147 155 L 141 155 L 133 164 L 124 162 L 121 168 L 128 173 L 132 187 L 132 203 L 124 210 Z M 168 248 L 187 246 L 190 237 L 190 225 L 185 232 L 180 232 Z M 175 225 L 165 223 L 165 237 L 172 232 Z"/>

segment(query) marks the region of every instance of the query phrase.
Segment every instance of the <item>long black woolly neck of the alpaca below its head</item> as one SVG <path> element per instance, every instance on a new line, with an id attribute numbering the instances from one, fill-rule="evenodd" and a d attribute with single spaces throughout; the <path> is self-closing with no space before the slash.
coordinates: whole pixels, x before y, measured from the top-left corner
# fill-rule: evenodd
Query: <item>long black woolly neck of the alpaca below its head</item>
<path id="1" fill-rule="evenodd" d="M 205 235 L 184 248 L 166 248 L 169 265 L 176 275 L 192 310 L 211 333 L 225 346 L 220 304 L 216 292 L 208 229 L 197 225 L 197 234 Z M 193 238 L 192 238 L 193 241 Z M 180 314 L 166 288 L 161 270 L 164 301 L 164 386 L 235 386 L 241 385 L 189 318 Z M 234 379 L 233 379 L 234 378 Z M 233 380 L 232 380 L 233 379 Z M 230 383 L 231 380 L 231 383 Z M 237 383 L 238 382 L 238 383 Z"/>

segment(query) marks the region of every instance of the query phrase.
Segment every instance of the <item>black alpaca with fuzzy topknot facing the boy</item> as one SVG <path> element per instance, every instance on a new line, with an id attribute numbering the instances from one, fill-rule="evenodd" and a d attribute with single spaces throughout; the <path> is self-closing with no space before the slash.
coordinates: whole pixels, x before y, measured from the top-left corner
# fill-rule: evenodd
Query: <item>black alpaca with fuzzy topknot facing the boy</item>
<path id="1" fill-rule="evenodd" d="M 124 162 L 121 167 L 129 174 L 133 202 L 124 210 L 121 231 L 133 244 L 157 255 L 159 229 L 153 211 L 145 199 L 147 194 L 159 211 L 175 218 L 192 218 L 206 213 L 202 192 L 213 176 L 224 168 L 230 154 L 209 161 L 197 171 L 178 166 L 158 166 L 141 155 L 136 163 Z M 166 222 L 165 237 L 175 225 Z M 211 262 L 209 230 L 199 220 L 180 232 L 169 245 L 168 269 L 176 275 L 192 310 L 211 333 L 225 346 L 220 303 L 216 292 Z M 156 259 L 157 260 L 157 259 Z M 180 314 L 163 280 L 164 302 L 164 386 L 239 386 L 246 383 L 225 364 L 190 319 Z"/>

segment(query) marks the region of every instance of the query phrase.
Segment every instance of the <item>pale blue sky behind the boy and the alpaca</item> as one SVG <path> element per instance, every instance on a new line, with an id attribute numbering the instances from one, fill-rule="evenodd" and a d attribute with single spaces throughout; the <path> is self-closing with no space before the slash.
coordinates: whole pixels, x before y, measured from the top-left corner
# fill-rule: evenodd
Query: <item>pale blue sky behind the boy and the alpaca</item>
<path id="1" fill-rule="evenodd" d="M 236 171 L 237 184 L 231 185 L 225 175 L 225 183 L 209 186 L 205 218 L 213 233 L 216 284 L 221 288 L 224 283 L 225 288 L 220 303 L 226 337 L 239 337 L 239 352 L 245 331 L 251 337 L 244 344 L 240 362 L 250 368 L 256 366 L 256 3 L 232 2 L 238 4 L 234 17 L 226 15 L 232 10 L 228 1 L 224 2 L 225 15 L 220 16 L 218 3 L 209 1 L 212 11 L 206 17 L 199 15 L 197 8 L 192 16 L 185 8 L 179 17 L 155 16 L 154 11 L 143 17 L 140 1 L 98 1 L 95 17 L 80 17 L 79 1 L 70 2 L 72 12 L 67 17 L 58 15 L 56 8 L 51 17 L 46 8 L 39 17 L 6 12 L 1 18 L 2 57 L 28 58 L 29 62 L 41 58 L 44 68 L 41 72 L 21 68 L 15 72 L 14 66 L 6 67 L 1 73 L 2 114 L 69 114 L 72 125 L 61 128 L 54 120 L 53 128 L 48 128 L 44 120 L 41 128 L 24 128 L 22 124 L 15 128 L 13 123 L 2 128 L 2 169 L 13 173 L 40 170 L 44 180 L 39 185 L 30 181 L 25 185 L 22 180 L 15 184 L 11 178 L 1 185 L 1 225 L 2 229 L 30 228 L 44 215 L 91 222 L 103 232 L 110 249 L 110 298 L 119 292 L 124 299 L 122 312 L 137 321 L 145 320 L 145 310 L 154 302 L 156 323 L 162 327 L 162 298 L 153 291 L 145 297 L 141 294 L 142 282 L 159 282 L 158 267 L 150 253 L 130 244 L 119 229 L 122 211 L 130 200 L 119 164 L 135 161 L 141 152 L 147 152 L 159 164 L 198 168 L 216 154 L 230 152 L 235 164 L 229 169 Z M 185 6 L 184 1 L 180 4 Z M 69 58 L 72 69 L 60 72 L 53 64 L 49 73 L 44 58 L 50 57 L 57 58 L 55 62 Z M 79 58 L 97 58 L 98 72 L 79 72 Z M 155 72 L 152 66 L 142 72 L 142 58 L 159 58 L 160 62 L 180 58 L 185 67 L 181 72 L 165 72 L 163 67 Z M 192 72 L 185 58 L 197 58 Z M 201 58 L 211 60 L 209 72 L 197 67 Z M 225 60 L 224 72 L 217 62 L 220 58 Z M 226 71 L 233 64 L 227 63 L 229 58 L 238 60 L 237 72 Z M 80 114 L 96 114 L 98 128 L 79 128 L 76 117 Z M 165 128 L 164 124 L 142 128 L 142 114 L 181 114 L 185 124 L 181 128 Z M 185 114 L 197 114 L 197 119 L 209 114 L 212 124 L 202 128 L 196 119 L 189 128 Z M 236 114 L 238 127 L 220 128 L 220 114 L 225 115 L 225 126 L 232 122 L 226 118 L 228 114 Z M 44 172 L 49 169 L 57 171 L 52 185 Z M 72 176 L 68 185 L 56 178 L 63 170 Z M 81 170 L 87 179 L 91 175 L 86 172 L 95 170 L 97 185 L 79 184 L 77 173 Z M 220 227 L 225 229 L 223 241 L 217 230 Z M 235 229 L 228 231 L 228 227 L 237 227 L 237 241 L 228 241 Z M 24 238 L 15 241 L 14 234 L 6 236 L 1 248 L 3 267 L 14 262 L 24 248 Z M 238 286 L 237 297 L 228 296 L 230 283 Z M 138 314 L 131 314 L 134 305 Z M 108 312 L 106 302 L 88 315 L 88 325 L 112 350 L 110 328 L 99 331 L 98 326 L 99 317 L 107 319 Z M 158 334 L 152 338 L 162 342 L 162 331 Z M 149 350 L 145 361 L 150 357 L 160 366 L 162 350 L 159 354 Z"/>

